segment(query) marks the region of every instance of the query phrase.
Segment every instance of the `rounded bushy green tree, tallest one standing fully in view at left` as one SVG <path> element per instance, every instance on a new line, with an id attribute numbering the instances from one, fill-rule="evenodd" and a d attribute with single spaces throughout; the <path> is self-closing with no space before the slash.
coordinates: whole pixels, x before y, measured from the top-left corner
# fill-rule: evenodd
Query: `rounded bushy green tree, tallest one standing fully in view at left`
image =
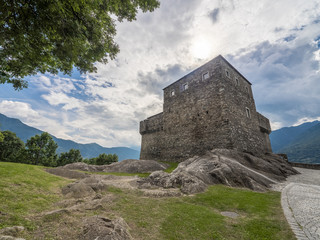
<path id="1" fill-rule="evenodd" d="M 27 140 L 26 147 L 29 163 L 48 167 L 57 165 L 56 150 L 58 145 L 49 133 L 44 132 L 40 136 L 31 137 Z"/>

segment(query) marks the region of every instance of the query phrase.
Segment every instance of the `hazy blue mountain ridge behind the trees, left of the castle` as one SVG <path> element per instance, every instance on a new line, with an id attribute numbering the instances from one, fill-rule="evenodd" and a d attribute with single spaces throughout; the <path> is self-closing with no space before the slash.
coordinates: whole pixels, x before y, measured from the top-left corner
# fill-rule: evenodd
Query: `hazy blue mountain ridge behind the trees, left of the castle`
<path id="1" fill-rule="evenodd" d="M 39 135 L 43 131 L 30 127 L 22 123 L 19 119 L 9 118 L 0 113 L 0 129 L 1 131 L 9 130 L 24 142 L 34 135 Z M 96 143 L 81 144 L 71 140 L 64 140 L 51 135 L 53 140 L 58 144 L 57 153 L 68 152 L 71 148 L 79 149 L 84 158 L 97 157 L 101 153 L 117 154 L 119 161 L 124 159 L 139 159 L 139 151 L 127 147 L 112 147 L 105 148 Z"/>

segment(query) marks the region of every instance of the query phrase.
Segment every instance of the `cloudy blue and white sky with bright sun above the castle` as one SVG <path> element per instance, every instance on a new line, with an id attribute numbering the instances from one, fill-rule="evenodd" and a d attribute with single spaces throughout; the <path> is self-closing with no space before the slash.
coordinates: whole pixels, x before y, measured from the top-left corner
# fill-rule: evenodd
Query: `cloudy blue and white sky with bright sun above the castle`
<path id="1" fill-rule="evenodd" d="M 273 130 L 320 120 L 319 0 L 161 0 L 117 23 L 117 58 L 96 73 L 0 85 L 0 113 L 79 143 L 138 149 L 162 89 L 221 54 L 253 85 Z"/>

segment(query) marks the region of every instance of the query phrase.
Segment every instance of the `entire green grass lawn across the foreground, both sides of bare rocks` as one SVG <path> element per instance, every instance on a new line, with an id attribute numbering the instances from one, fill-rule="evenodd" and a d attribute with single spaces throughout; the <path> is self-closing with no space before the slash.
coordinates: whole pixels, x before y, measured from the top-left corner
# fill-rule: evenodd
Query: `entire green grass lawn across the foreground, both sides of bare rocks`
<path id="1" fill-rule="evenodd" d="M 257 193 L 216 185 L 193 196 L 150 198 L 139 190 L 109 187 L 104 194 L 112 195 L 113 200 L 103 209 L 68 214 L 45 224 L 41 218 L 33 218 L 33 222 L 28 218 L 52 209 L 61 200 L 59 189 L 70 181 L 50 175 L 39 166 L 4 162 L 0 162 L 0 177 L 0 228 L 23 225 L 27 227 L 26 239 L 35 239 L 36 231 L 55 239 L 56 226 L 61 222 L 78 229 L 82 217 L 94 214 L 124 218 L 134 239 L 295 239 L 278 192 Z M 224 217 L 222 211 L 239 216 Z M 74 238 L 65 235 L 65 239 Z"/>

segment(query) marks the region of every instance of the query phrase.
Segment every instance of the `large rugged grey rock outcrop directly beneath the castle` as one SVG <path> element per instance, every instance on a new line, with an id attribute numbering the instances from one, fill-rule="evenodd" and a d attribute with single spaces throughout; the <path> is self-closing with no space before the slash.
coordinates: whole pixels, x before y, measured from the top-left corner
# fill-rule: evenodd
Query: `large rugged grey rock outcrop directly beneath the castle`
<path id="1" fill-rule="evenodd" d="M 140 188 L 179 187 L 186 194 L 202 192 L 213 184 L 264 191 L 296 173 L 288 162 L 275 154 L 256 157 L 235 150 L 215 149 L 181 162 L 171 174 L 154 172 L 140 180 L 139 185 Z"/>

